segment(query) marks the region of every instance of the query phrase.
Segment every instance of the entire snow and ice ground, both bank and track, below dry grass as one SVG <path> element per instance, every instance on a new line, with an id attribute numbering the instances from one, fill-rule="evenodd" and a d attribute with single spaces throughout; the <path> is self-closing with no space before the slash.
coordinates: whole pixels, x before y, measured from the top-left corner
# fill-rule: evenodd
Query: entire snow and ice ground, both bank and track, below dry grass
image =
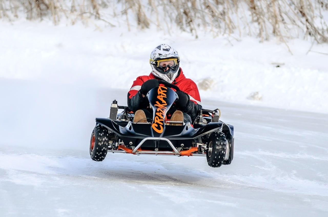
<path id="1" fill-rule="evenodd" d="M 252 38 L 232 46 L 223 37 L 26 21 L 0 29 L 0 216 L 327 216 L 327 56 L 306 55 L 310 42 L 290 41 L 291 55 Z M 235 126 L 231 165 L 90 159 L 94 118 L 107 117 L 113 99 L 126 104 L 162 42 L 202 86 L 203 107 Z M 248 99 L 254 92 L 261 100 Z"/>

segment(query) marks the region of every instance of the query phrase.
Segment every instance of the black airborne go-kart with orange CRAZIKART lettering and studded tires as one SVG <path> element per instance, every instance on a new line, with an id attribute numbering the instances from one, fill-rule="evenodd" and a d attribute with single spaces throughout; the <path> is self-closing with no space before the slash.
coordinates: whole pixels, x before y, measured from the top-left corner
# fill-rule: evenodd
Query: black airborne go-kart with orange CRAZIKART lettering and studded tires
<path id="1" fill-rule="evenodd" d="M 134 114 L 114 100 L 109 118 L 96 118 L 90 140 L 92 160 L 102 161 L 108 152 L 134 155 L 206 156 L 211 167 L 230 164 L 234 157 L 234 127 L 219 120 L 219 109 L 198 111 L 193 123 L 170 121 L 167 111 L 177 100 L 179 88 L 165 81 L 146 97 L 153 119 L 133 123 Z M 118 114 L 118 109 L 123 112 Z M 179 125 L 176 125 L 179 124 Z"/>

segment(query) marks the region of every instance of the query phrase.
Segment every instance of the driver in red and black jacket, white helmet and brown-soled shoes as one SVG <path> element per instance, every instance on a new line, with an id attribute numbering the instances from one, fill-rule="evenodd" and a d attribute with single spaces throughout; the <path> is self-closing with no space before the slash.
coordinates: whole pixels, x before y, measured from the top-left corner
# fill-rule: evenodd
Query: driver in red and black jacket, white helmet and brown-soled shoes
<path id="1" fill-rule="evenodd" d="M 145 95 L 159 86 L 158 80 L 167 81 L 180 89 L 176 91 L 179 98 L 168 110 L 166 118 L 191 124 L 195 121 L 198 110 L 202 109 L 199 92 L 195 82 L 183 75 L 179 63 L 178 52 L 169 45 L 160 44 L 153 50 L 150 55 L 151 74 L 137 77 L 128 92 L 128 107 L 135 112 L 134 123 L 146 123 L 147 119 L 150 121 L 153 118 Z"/>

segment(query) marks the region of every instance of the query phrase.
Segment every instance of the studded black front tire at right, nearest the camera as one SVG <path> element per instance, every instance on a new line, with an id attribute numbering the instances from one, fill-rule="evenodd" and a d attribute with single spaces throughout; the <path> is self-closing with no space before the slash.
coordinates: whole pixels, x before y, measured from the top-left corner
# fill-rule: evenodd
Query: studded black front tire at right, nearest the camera
<path id="1" fill-rule="evenodd" d="M 206 158 L 210 167 L 220 167 L 226 153 L 227 140 L 224 133 L 213 132 L 207 142 Z"/>

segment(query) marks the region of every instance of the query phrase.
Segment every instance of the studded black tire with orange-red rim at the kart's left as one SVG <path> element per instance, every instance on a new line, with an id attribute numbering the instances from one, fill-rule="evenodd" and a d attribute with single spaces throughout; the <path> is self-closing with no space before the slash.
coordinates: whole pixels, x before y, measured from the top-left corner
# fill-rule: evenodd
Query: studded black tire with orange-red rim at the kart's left
<path id="1" fill-rule="evenodd" d="M 90 139 L 90 157 L 94 161 L 103 161 L 107 155 L 109 132 L 104 126 L 94 127 Z"/>

